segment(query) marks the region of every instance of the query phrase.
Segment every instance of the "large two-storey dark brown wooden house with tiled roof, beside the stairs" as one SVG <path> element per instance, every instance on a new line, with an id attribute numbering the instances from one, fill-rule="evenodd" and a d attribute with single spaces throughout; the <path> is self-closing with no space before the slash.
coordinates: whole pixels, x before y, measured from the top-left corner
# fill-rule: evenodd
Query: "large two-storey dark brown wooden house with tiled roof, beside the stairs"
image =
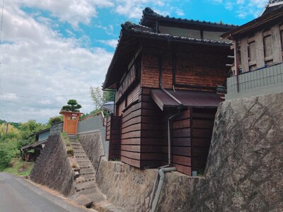
<path id="1" fill-rule="evenodd" d="M 113 89 L 109 159 L 139 168 L 172 165 L 187 175 L 204 170 L 216 109 L 226 83 L 234 25 L 143 11 L 122 24 L 103 89 Z M 232 52 L 233 53 L 233 52 Z M 231 60 L 231 59 L 230 59 Z"/>

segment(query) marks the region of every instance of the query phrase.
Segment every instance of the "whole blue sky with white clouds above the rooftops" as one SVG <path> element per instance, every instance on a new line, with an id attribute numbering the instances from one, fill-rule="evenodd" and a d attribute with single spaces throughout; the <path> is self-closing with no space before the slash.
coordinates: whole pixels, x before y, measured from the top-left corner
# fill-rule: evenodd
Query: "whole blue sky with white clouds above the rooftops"
<path id="1" fill-rule="evenodd" d="M 1 5 L 3 1 L 0 1 Z M 0 119 L 45 123 L 69 98 L 93 110 L 90 86 L 105 78 L 120 24 L 139 23 L 149 6 L 163 16 L 241 25 L 260 0 L 9 0 L 0 47 Z"/>

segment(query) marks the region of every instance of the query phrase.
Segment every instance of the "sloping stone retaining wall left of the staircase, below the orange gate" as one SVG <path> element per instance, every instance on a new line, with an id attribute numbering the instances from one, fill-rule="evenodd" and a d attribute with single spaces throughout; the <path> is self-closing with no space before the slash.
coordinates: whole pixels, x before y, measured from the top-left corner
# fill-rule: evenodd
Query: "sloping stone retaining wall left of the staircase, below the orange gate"
<path id="1" fill-rule="evenodd" d="M 35 162 L 30 179 L 69 196 L 74 192 L 74 171 L 59 135 L 49 136 L 45 148 Z"/>

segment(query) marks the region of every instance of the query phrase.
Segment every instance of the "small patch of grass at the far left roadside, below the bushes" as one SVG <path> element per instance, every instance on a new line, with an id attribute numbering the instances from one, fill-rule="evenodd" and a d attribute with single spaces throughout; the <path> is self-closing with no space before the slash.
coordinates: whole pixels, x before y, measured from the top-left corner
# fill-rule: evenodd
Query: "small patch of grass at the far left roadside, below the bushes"
<path id="1" fill-rule="evenodd" d="M 21 158 L 13 158 L 10 162 L 11 167 L 6 167 L 2 171 L 13 175 L 28 177 L 34 164 L 34 162 L 25 162 Z"/>

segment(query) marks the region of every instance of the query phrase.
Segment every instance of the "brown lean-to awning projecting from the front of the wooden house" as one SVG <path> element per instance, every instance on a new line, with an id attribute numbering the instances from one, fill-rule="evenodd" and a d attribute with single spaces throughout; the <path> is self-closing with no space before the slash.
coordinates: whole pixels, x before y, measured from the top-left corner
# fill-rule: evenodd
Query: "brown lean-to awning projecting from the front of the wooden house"
<path id="1" fill-rule="evenodd" d="M 223 100 L 219 95 L 212 92 L 195 90 L 166 90 L 152 89 L 151 98 L 161 110 L 164 107 L 218 107 Z M 173 97 L 172 97 L 172 96 Z M 175 98 L 175 99 L 174 99 Z M 178 101 L 176 101 L 178 100 Z"/>

